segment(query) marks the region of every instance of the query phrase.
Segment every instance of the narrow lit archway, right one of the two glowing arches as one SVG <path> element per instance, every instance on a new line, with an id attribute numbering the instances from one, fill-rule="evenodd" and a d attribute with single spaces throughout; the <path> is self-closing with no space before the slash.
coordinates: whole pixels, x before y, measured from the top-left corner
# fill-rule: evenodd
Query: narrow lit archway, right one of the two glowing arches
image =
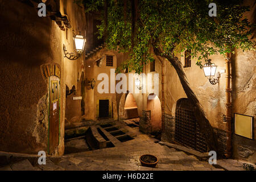
<path id="1" fill-rule="evenodd" d="M 151 93 L 147 97 L 147 110 L 150 110 L 151 133 L 162 130 L 161 102 L 156 94 Z"/>

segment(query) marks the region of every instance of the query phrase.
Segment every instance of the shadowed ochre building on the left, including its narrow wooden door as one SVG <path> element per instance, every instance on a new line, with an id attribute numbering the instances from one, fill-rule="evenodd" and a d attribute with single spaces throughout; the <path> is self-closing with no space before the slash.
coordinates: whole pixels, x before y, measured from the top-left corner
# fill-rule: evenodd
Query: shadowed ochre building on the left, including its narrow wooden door
<path id="1" fill-rule="evenodd" d="M 66 87 L 77 88 L 84 72 L 83 55 L 68 60 L 63 47 L 74 52 L 86 19 L 73 1 L 46 1 L 46 17 L 38 16 L 38 3 L 0 1 L 0 150 L 63 155 Z"/>

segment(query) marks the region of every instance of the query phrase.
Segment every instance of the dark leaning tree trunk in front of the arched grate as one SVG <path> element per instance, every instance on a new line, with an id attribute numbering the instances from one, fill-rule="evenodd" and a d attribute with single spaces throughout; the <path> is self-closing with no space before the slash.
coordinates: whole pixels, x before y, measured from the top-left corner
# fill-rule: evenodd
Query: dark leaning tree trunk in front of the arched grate
<path id="1" fill-rule="evenodd" d="M 199 100 L 197 99 L 195 93 L 189 86 L 187 76 L 185 75 L 183 65 L 181 64 L 180 60 L 177 57 L 164 55 L 155 46 L 154 46 L 154 53 L 170 61 L 170 63 L 176 70 L 177 75 L 179 76 L 181 85 L 184 89 L 184 92 L 187 95 L 189 102 L 191 102 L 193 106 L 195 117 L 196 117 L 197 123 L 199 124 L 200 131 L 201 133 L 205 134 L 205 139 L 206 139 L 205 142 L 207 143 L 209 150 L 213 150 L 217 152 L 218 151 L 217 137 L 208 119 L 205 117 L 204 110 L 201 107 Z"/>

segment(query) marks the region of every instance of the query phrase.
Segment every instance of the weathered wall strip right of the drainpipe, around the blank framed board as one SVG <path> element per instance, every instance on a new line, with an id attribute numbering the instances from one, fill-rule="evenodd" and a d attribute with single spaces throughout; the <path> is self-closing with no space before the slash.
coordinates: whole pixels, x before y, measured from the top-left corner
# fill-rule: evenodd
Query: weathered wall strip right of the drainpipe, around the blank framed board
<path id="1" fill-rule="evenodd" d="M 254 139 L 233 135 L 233 155 L 235 158 L 256 161 L 256 52 L 236 51 L 232 64 L 233 113 L 254 117 Z M 233 127 L 234 128 L 234 127 Z"/>

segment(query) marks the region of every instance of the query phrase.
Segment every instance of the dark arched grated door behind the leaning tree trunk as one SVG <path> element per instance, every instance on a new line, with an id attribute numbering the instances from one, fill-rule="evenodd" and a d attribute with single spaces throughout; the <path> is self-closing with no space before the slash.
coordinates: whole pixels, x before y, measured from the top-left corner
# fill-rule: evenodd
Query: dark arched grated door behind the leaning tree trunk
<path id="1" fill-rule="evenodd" d="M 207 152 L 205 137 L 200 133 L 193 107 L 187 98 L 177 101 L 175 111 L 175 140 L 200 152 Z"/>

